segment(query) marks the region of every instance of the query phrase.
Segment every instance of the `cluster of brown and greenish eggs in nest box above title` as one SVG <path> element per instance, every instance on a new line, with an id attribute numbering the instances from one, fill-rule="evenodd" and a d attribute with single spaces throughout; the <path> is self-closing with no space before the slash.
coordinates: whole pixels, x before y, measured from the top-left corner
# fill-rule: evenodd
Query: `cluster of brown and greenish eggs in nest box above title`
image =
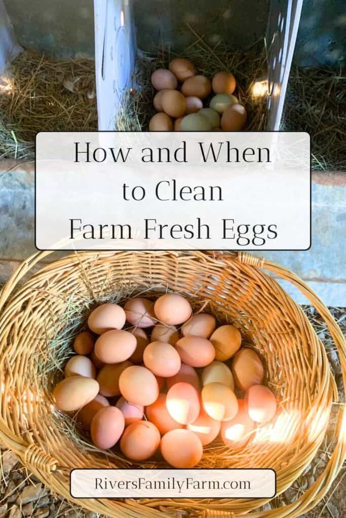
<path id="1" fill-rule="evenodd" d="M 210 80 L 198 75 L 191 61 L 177 57 L 169 70 L 154 71 L 151 84 L 158 113 L 150 131 L 239 131 L 245 126 L 246 110 L 233 95 L 237 81 L 231 72 L 220 71 Z"/>

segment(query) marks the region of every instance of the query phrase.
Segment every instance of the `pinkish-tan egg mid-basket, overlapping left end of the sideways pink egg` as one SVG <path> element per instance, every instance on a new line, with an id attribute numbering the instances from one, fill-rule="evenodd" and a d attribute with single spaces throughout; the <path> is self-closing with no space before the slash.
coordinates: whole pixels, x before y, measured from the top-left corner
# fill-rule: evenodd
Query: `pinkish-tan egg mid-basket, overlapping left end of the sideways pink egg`
<path id="1" fill-rule="evenodd" d="M 156 376 L 169 378 L 180 369 L 181 359 L 178 352 L 167 342 L 151 342 L 143 353 L 144 365 Z"/>

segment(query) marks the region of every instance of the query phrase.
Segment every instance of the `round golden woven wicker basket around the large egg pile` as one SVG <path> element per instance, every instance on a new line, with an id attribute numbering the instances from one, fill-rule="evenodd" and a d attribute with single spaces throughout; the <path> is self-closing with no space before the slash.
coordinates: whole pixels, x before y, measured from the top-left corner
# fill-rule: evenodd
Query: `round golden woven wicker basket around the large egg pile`
<path id="1" fill-rule="evenodd" d="M 280 509 L 252 511 L 268 501 L 264 499 L 72 499 L 72 468 L 129 467 L 120 453 L 106 456 L 86 443 L 77 443 L 62 426 L 61 414 L 52 408 L 54 375 L 49 379 L 43 367 L 52 353 L 54 334 L 57 329 L 62 332 L 59 323 L 72 299 L 81 308 L 81 323 L 93 305 L 114 300 L 115 294 L 169 289 L 189 297 L 197 306 L 209 304 L 208 309 L 221 322 L 237 325 L 244 342 L 264 359 L 267 382 L 280 401 L 280 411 L 274 423 L 256 429 L 241 451 L 230 453 L 221 443 L 205 449 L 200 467 L 270 467 L 277 473 L 278 493 L 311 463 L 338 396 L 322 342 L 305 314 L 264 269 L 294 284 L 322 315 L 340 356 L 344 383 L 346 348 L 333 317 L 301 279 L 247 253 L 80 252 L 44 266 L 19 287 L 23 277 L 36 270 L 36 264 L 47 255 L 39 253 L 24 262 L 0 297 L 0 438 L 53 492 L 117 518 L 179 515 L 180 510 L 211 517 L 250 512 L 252 518 L 294 518 L 326 495 L 345 458 L 346 418 L 342 415 L 325 471 L 305 494 Z M 62 363 L 63 358 L 58 358 L 56 366 Z M 160 462 L 156 465 L 162 465 Z M 142 464 L 153 466 L 153 462 Z"/>

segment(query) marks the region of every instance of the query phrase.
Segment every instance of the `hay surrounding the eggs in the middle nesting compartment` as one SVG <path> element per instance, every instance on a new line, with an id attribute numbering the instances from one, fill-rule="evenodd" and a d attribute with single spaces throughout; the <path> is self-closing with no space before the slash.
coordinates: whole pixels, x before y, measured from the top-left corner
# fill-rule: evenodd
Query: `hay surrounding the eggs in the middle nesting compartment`
<path id="1" fill-rule="evenodd" d="M 196 41 L 178 56 L 191 60 L 198 73 L 209 78 L 220 70 L 232 71 L 237 79 L 237 90 L 234 93 L 247 110 L 245 129 L 266 130 L 266 96 L 254 96 L 252 92 L 254 83 L 268 76 L 265 49 L 260 53 L 254 48 L 247 51 L 232 50 L 222 40 L 211 48 L 202 36 L 198 36 L 191 27 L 189 28 L 195 34 Z M 137 87 L 124 96 L 123 106 L 115 124 L 117 131 L 148 130 L 150 118 L 155 114 L 155 91 L 151 86 L 150 76 L 157 68 L 168 68 L 174 57 L 177 57 L 177 54 L 164 46 L 159 47 L 154 54 L 139 52 L 133 77 L 133 83 Z M 207 102 L 204 105 L 207 106 Z"/>

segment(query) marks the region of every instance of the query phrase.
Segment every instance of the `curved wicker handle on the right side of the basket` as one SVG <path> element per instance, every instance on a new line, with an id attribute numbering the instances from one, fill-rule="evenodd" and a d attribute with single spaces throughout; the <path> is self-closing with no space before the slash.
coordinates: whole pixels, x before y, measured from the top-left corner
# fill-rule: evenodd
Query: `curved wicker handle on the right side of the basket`
<path id="1" fill-rule="evenodd" d="M 271 271 L 281 279 L 289 281 L 291 284 L 297 287 L 297 289 L 307 297 L 310 303 L 320 313 L 324 319 L 331 336 L 333 337 L 335 346 L 337 348 L 340 365 L 342 369 L 343 385 L 346 386 L 346 341 L 342 335 L 341 329 L 336 323 L 335 319 L 331 315 L 328 308 L 322 302 L 319 296 L 317 296 L 311 288 L 302 280 L 300 277 L 295 275 L 292 271 L 277 265 L 271 261 L 266 261 L 264 258 L 257 257 L 249 254 L 248 252 L 238 252 L 237 256 L 229 255 L 230 260 L 239 261 L 244 265 L 250 267 L 262 268 Z M 224 260 L 227 260 L 227 256 L 223 255 Z M 346 407 L 340 415 L 340 419 L 337 425 L 339 429 L 338 442 L 335 450 L 331 455 L 329 462 L 314 484 L 301 495 L 297 500 L 289 505 L 272 509 L 271 511 L 254 511 L 246 514 L 249 518 L 297 518 L 312 509 L 316 503 L 321 501 L 324 496 L 328 493 L 331 484 L 333 483 L 338 472 L 342 468 L 342 465 L 346 458 Z M 202 513 L 203 518 L 243 518 L 243 514 L 236 514 L 231 511 L 224 510 L 205 510 Z"/>

